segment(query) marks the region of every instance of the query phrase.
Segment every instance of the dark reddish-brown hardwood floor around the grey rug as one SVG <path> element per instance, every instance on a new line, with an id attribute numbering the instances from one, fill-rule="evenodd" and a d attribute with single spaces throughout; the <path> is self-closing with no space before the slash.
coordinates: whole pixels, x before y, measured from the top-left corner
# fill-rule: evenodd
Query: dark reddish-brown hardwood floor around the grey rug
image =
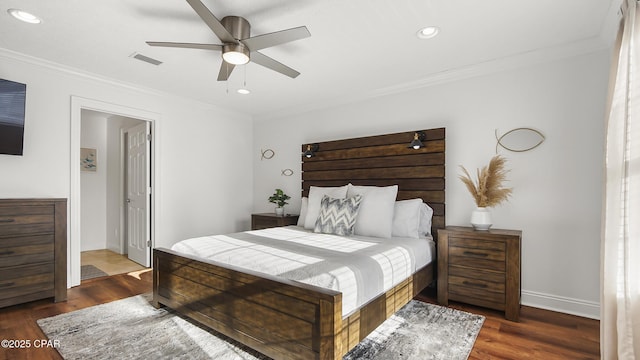
<path id="1" fill-rule="evenodd" d="M 68 300 L 34 301 L 0 309 L 0 340 L 46 339 L 36 320 L 151 291 L 151 272 L 88 280 L 69 289 Z M 420 300 L 436 303 L 425 291 Z M 520 322 L 505 320 L 502 313 L 471 305 L 451 307 L 486 317 L 469 356 L 478 359 L 599 359 L 599 322 L 577 316 L 523 306 Z M 52 348 L 0 348 L 0 359 L 62 359 Z"/>

